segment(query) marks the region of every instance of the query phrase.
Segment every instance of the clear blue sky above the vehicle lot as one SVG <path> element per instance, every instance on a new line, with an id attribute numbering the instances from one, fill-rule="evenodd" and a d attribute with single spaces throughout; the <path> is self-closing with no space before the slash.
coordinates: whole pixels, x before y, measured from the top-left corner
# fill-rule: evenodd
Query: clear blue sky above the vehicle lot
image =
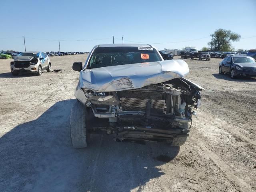
<path id="1" fill-rule="evenodd" d="M 0 18 L 0 50 L 24 51 L 23 35 L 27 51 L 58 51 L 60 40 L 61 51 L 89 52 L 112 36 L 160 50 L 200 49 L 218 28 L 244 38 L 234 48 L 256 48 L 256 0 L 12 0 L 1 2 Z"/>

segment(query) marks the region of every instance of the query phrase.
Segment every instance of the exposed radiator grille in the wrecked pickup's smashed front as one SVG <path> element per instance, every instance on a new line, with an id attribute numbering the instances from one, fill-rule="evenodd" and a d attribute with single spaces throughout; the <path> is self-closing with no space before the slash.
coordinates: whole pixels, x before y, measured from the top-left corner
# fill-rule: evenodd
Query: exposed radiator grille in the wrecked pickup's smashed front
<path id="1" fill-rule="evenodd" d="M 163 92 L 128 90 L 118 92 L 123 111 L 146 111 L 150 102 L 152 113 L 165 113 Z"/>

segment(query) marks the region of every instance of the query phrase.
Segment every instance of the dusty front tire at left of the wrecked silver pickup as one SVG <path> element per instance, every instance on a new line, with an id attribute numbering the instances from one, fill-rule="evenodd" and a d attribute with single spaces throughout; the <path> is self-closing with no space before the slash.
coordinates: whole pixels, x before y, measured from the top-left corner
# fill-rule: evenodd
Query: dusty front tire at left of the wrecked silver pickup
<path id="1" fill-rule="evenodd" d="M 86 108 L 77 101 L 70 114 L 70 137 L 74 148 L 86 148 Z"/>

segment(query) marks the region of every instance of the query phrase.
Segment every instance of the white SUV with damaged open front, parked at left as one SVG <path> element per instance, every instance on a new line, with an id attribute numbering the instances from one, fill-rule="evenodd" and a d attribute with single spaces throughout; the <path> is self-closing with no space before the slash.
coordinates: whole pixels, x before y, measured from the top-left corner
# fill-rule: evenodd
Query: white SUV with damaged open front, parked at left
<path id="1" fill-rule="evenodd" d="M 12 75 L 16 76 L 20 72 L 42 74 L 42 70 L 51 71 L 52 64 L 45 52 L 22 52 L 14 57 L 11 62 Z"/>

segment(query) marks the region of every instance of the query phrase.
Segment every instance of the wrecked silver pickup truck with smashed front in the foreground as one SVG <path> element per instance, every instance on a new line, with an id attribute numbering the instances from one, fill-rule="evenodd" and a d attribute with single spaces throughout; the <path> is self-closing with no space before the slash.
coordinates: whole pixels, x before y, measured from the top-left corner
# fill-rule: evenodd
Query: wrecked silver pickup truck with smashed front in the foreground
<path id="1" fill-rule="evenodd" d="M 166 60 L 141 44 L 97 45 L 80 71 L 70 116 L 74 148 L 87 147 L 90 134 L 116 140 L 186 142 L 203 88 L 183 78 L 188 65 Z"/>

